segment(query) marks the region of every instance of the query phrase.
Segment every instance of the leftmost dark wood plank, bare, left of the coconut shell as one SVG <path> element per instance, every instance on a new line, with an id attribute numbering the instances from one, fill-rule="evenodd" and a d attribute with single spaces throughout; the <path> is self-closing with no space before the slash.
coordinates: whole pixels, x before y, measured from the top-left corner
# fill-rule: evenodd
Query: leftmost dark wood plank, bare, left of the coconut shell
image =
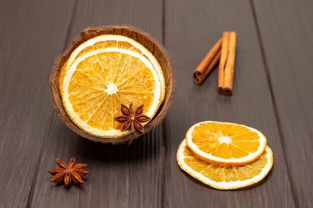
<path id="1" fill-rule="evenodd" d="M 72 0 L 4 0 L 0 6 L 0 207 L 29 207 L 42 146 L 52 137 L 47 86 Z"/>

